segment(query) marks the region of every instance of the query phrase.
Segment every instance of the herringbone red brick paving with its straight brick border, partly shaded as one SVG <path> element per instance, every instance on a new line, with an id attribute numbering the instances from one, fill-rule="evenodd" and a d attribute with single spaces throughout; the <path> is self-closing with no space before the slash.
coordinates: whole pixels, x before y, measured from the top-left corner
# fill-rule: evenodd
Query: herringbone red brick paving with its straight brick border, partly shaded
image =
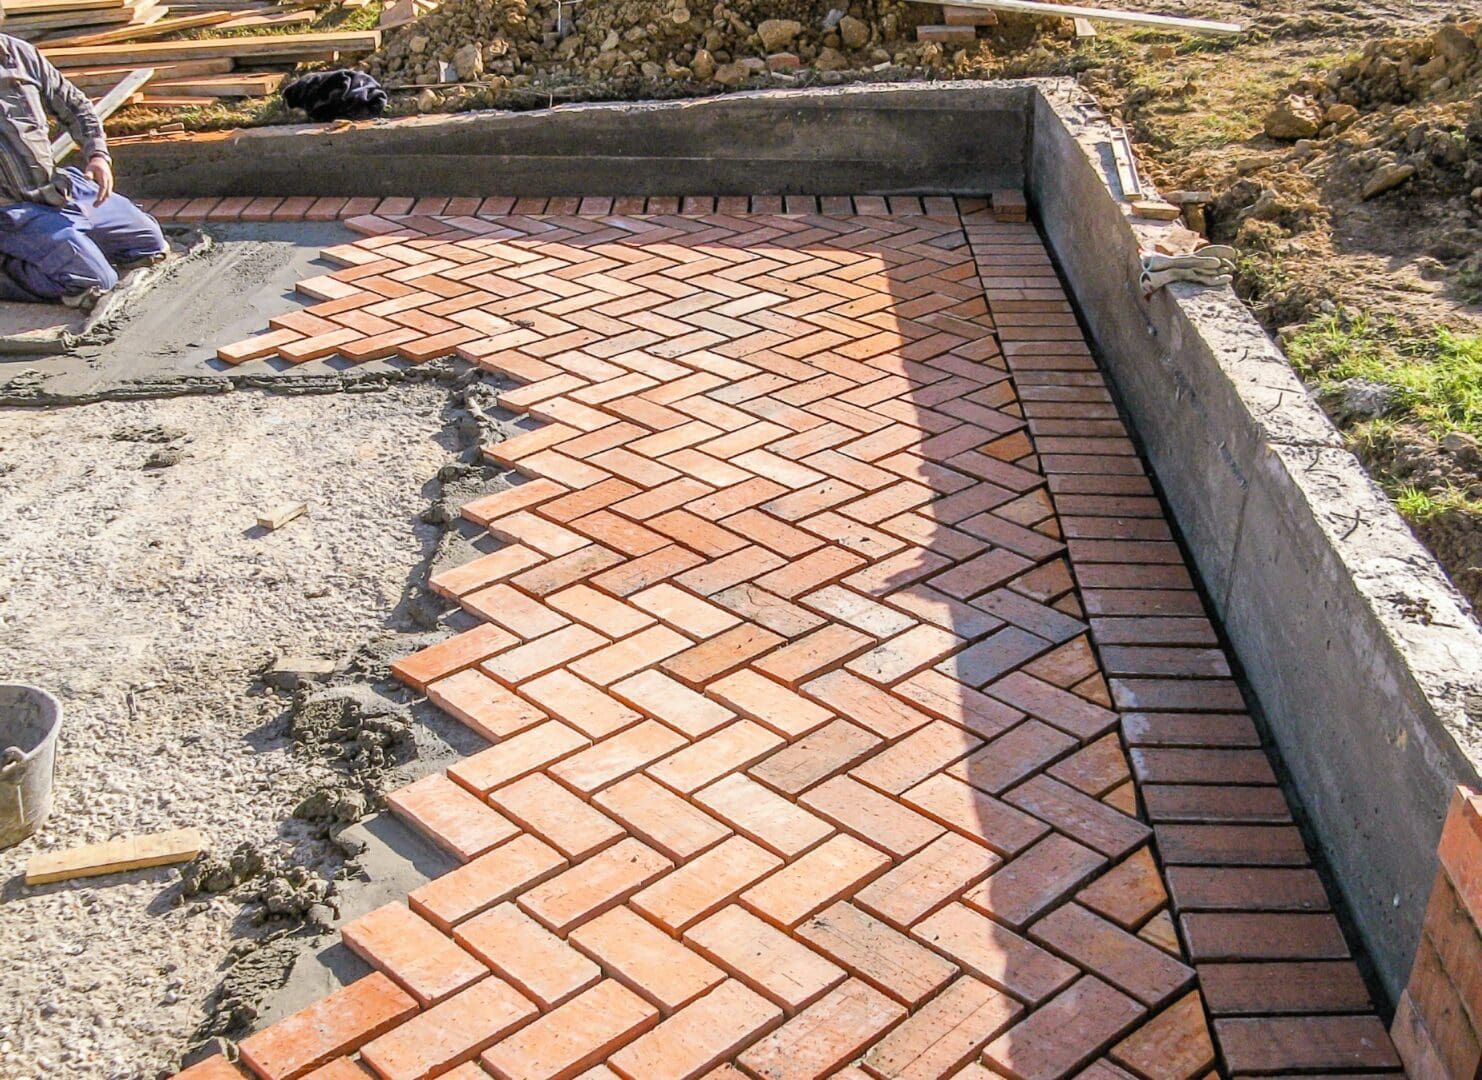
<path id="1" fill-rule="evenodd" d="M 461 865 L 243 1068 L 1399 1068 L 1031 225 L 329 201 L 365 239 L 222 356 L 456 351 L 532 422 L 431 582 L 477 628 L 394 668 L 489 739 L 390 799 Z"/>

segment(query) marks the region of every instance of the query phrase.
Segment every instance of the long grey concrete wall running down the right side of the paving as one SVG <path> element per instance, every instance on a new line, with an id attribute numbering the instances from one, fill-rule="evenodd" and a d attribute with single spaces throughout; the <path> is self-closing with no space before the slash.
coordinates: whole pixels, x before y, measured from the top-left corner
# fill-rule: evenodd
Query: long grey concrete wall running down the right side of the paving
<path id="1" fill-rule="evenodd" d="M 1033 132 L 1030 199 L 1393 999 L 1482 761 L 1482 634 L 1229 289 L 1141 298 L 1074 87 L 1043 84 Z"/>

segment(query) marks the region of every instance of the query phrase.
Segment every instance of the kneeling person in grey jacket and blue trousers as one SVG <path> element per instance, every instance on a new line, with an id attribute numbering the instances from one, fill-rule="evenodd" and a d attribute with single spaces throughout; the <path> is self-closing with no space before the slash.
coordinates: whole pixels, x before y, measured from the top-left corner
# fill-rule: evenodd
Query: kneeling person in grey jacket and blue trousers
<path id="1" fill-rule="evenodd" d="M 56 167 L 47 113 L 82 147 L 82 169 Z M 87 96 L 31 44 L 0 34 L 0 299 L 90 308 L 119 270 L 167 253 L 159 222 L 114 194 Z"/>

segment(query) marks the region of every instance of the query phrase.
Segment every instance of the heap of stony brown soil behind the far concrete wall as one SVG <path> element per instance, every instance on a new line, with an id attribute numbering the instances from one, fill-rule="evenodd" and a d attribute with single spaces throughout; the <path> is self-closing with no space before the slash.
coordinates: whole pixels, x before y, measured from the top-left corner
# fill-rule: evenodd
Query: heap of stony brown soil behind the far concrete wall
<path id="1" fill-rule="evenodd" d="M 720 0 L 708 9 L 701 0 L 448 0 L 391 33 L 365 67 L 393 87 L 464 83 L 455 96 L 526 89 L 544 98 L 582 86 L 581 96 L 662 98 L 834 83 L 851 71 L 983 76 L 1009 53 L 1045 67 L 1070 37 L 1066 19 L 1008 16 L 975 41 L 917 41 L 916 27 L 940 18 L 938 7 L 904 0 Z M 449 105 L 456 101 L 442 95 L 422 102 Z"/>

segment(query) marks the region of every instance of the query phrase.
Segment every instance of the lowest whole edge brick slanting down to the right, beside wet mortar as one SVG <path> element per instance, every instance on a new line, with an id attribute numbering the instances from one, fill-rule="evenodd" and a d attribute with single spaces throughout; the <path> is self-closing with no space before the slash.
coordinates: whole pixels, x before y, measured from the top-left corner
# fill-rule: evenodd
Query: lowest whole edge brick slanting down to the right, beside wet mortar
<path id="1" fill-rule="evenodd" d="M 345 923 L 339 936 L 351 953 L 396 979 L 422 1007 L 452 997 L 489 973 L 402 904 L 385 904 Z"/>

